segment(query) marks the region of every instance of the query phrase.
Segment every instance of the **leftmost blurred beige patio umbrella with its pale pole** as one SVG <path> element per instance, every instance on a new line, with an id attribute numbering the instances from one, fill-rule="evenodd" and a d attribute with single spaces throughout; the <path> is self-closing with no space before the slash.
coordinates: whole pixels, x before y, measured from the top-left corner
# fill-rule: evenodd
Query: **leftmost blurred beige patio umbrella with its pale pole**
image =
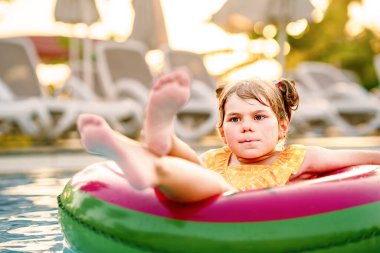
<path id="1" fill-rule="evenodd" d="M 100 20 L 99 12 L 95 0 L 57 0 L 54 9 L 54 17 L 58 22 L 68 24 L 84 23 L 87 26 Z M 69 61 L 72 71 L 79 72 L 77 67 L 79 44 L 77 39 L 71 38 L 69 42 Z M 92 43 L 89 38 L 83 40 L 83 80 L 92 88 L 93 85 L 93 67 L 92 67 Z"/>

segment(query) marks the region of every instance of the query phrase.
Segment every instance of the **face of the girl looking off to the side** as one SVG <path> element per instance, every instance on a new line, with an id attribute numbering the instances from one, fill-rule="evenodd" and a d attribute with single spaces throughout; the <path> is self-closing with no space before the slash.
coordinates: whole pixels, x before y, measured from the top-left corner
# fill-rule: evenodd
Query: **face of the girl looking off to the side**
<path id="1" fill-rule="evenodd" d="M 233 94 L 224 109 L 219 132 L 240 161 L 260 160 L 271 154 L 286 133 L 286 122 L 279 124 L 272 109 L 256 99 L 243 100 Z"/>

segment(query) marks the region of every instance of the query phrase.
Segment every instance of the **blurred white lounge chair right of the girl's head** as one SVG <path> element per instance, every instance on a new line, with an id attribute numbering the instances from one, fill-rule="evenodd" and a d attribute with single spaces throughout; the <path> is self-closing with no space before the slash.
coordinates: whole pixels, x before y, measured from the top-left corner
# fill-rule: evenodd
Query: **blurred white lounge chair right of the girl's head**
<path id="1" fill-rule="evenodd" d="M 327 63 L 303 62 L 294 74 L 312 93 L 328 100 L 359 134 L 368 134 L 380 127 L 376 98 L 344 71 Z"/>

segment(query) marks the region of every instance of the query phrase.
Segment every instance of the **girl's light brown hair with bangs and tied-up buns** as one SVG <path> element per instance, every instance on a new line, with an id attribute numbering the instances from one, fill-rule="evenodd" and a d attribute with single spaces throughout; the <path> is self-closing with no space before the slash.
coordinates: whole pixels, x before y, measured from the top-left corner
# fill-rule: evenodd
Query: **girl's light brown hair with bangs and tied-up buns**
<path id="1" fill-rule="evenodd" d="M 219 128 L 223 126 L 225 104 L 233 94 L 241 99 L 256 99 L 261 104 L 269 106 L 279 122 L 282 119 L 290 121 L 292 111 L 298 108 L 299 103 L 298 92 L 292 80 L 282 79 L 272 83 L 252 79 L 223 85 L 216 89 L 216 96 L 219 100 Z"/>

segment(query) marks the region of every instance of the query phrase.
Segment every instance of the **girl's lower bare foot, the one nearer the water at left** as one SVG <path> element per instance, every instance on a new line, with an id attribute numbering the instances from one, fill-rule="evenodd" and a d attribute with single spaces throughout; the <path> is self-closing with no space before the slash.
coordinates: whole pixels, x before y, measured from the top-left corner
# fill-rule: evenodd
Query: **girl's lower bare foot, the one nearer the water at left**
<path id="1" fill-rule="evenodd" d="M 141 190 L 154 185 L 155 158 L 140 144 L 113 131 L 97 115 L 81 114 L 77 126 L 84 148 L 91 154 L 114 160 L 134 188 Z"/>

